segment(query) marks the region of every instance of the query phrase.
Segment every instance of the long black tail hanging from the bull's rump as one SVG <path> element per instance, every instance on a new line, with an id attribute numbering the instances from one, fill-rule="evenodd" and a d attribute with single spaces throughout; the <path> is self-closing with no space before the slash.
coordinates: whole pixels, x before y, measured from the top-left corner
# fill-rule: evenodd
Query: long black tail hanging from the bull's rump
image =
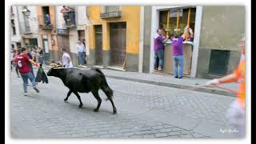
<path id="1" fill-rule="evenodd" d="M 98 69 L 97 67 L 94 67 L 94 70 L 96 70 L 96 71 L 98 71 L 98 73 L 102 74 L 102 83 L 100 86 L 101 86 L 101 89 L 103 90 L 103 92 L 107 96 L 106 100 L 112 99 L 113 98 L 113 90 L 107 84 L 105 74 L 103 74 L 102 70 Z"/>

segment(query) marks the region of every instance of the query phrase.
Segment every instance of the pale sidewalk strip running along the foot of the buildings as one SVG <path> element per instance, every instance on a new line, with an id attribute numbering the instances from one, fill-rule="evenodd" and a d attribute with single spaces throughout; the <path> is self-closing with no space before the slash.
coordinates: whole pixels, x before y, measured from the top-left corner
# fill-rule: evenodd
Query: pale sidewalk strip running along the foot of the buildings
<path id="1" fill-rule="evenodd" d="M 77 67 L 77 68 L 81 69 L 82 67 Z M 204 93 L 221 94 L 221 95 L 235 97 L 235 94 L 231 93 L 229 90 L 222 90 L 218 88 L 201 86 L 205 84 L 207 81 L 209 81 L 209 79 L 186 78 L 186 77 L 179 79 L 179 78 L 174 78 L 172 75 L 167 75 L 167 74 L 146 74 L 146 73 L 107 70 L 107 69 L 102 69 L 102 72 L 106 75 L 107 78 L 116 78 L 116 79 L 132 81 L 132 82 L 142 82 L 142 83 L 158 85 L 158 86 L 167 86 L 167 87 L 174 87 L 178 89 L 195 90 L 195 91 L 204 92 Z M 231 90 L 237 90 L 238 84 L 227 83 L 227 84 L 222 84 L 221 86 L 225 86 L 226 88 L 229 88 Z"/>

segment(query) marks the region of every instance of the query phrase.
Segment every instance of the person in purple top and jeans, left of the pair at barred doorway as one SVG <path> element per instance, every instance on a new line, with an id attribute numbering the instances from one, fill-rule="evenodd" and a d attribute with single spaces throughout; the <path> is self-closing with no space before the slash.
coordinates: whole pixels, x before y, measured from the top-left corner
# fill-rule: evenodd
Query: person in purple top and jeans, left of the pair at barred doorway
<path id="1" fill-rule="evenodd" d="M 161 28 L 157 30 L 154 36 L 154 70 L 163 70 L 163 57 L 164 57 L 164 43 L 167 42 L 169 36 L 164 36 L 164 30 Z M 159 62 L 158 62 L 159 61 Z M 158 67 L 159 63 L 159 67 Z"/>

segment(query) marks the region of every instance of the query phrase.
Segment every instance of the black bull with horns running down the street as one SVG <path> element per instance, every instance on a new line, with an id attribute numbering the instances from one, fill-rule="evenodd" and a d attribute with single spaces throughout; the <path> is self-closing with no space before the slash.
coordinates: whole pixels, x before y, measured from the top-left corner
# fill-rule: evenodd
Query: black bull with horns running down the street
<path id="1" fill-rule="evenodd" d="M 98 90 L 102 89 L 113 106 L 113 114 L 117 113 L 112 99 L 113 90 L 110 89 L 110 86 L 108 86 L 106 82 L 105 75 L 98 68 L 91 67 L 86 70 L 77 68 L 51 68 L 47 75 L 61 78 L 64 85 L 70 89 L 64 99 L 65 102 L 68 100 L 70 94 L 74 93 L 80 102 L 79 107 L 82 107 L 82 101 L 78 92 L 91 92 L 98 101 L 98 106 L 94 109 L 95 112 L 98 112 L 102 103 L 102 98 L 99 97 Z"/>

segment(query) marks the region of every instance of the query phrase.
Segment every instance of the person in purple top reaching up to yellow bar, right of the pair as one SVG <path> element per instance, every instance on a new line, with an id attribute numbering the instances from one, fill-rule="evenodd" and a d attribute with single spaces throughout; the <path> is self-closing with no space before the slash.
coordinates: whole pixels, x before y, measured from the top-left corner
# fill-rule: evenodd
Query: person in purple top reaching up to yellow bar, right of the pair
<path id="1" fill-rule="evenodd" d="M 185 29 L 187 30 L 187 28 Z M 186 30 L 184 30 L 184 33 Z M 177 33 L 174 34 L 174 38 L 171 42 L 173 46 L 174 78 L 183 77 L 183 41 L 185 38 L 184 33 L 181 36 L 179 36 Z"/>

